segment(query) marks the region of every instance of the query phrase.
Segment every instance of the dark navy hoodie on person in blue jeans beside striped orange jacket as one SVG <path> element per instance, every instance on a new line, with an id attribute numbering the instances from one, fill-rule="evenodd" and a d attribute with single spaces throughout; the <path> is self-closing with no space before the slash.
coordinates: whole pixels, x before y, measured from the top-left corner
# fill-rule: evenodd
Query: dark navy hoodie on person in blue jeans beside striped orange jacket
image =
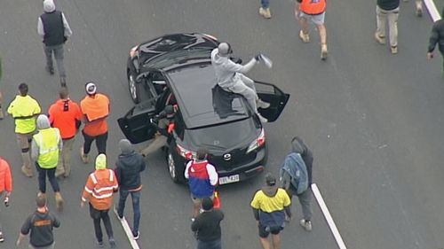
<path id="1" fill-rule="evenodd" d="M 115 176 L 120 188 L 131 191 L 138 190 L 142 186 L 140 172 L 146 167 L 142 155 L 134 151 L 128 154 L 122 153 L 115 165 Z"/>

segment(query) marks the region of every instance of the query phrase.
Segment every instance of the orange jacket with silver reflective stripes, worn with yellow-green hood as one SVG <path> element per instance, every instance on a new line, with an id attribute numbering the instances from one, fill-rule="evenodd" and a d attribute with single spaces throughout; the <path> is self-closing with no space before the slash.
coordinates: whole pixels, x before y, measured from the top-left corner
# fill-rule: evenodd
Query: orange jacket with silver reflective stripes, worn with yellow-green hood
<path id="1" fill-rule="evenodd" d="M 114 170 L 98 169 L 88 175 L 82 200 L 90 200 L 91 205 L 97 210 L 107 210 L 113 206 L 113 194 L 118 188 Z"/>

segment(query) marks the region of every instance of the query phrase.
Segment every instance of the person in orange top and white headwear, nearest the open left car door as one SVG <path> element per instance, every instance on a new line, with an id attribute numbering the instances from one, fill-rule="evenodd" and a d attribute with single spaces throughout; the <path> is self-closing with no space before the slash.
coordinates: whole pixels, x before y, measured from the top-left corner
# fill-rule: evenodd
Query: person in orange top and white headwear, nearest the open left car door
<path id="1" fill-rule="evenodd" d="M 86 97 L 80 102 L 80 108 L 85 121 L 82 130 L 84 143 L 80 148 L 80 156 L 83 163 L 88 163 L 88 153 L 91 151 L 92 141 L 96 140 L 99 154 L 107 153 L 109 98 L 97 92 L 94 82 L 85 85 Z"/>

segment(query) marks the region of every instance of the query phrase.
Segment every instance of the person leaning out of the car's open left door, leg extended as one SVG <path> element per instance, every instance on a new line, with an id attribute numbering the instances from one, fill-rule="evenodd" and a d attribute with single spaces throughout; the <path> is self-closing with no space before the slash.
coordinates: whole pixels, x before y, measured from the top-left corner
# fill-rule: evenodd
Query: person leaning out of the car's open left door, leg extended
<path id="1" fill-rule="evenodd" d="M 141 151 L 142 156 L 147 157 L 167 144 L 168 136 L 174 129 L 174 114 L 174 106 L 166 105 L 163 111 L 151 121 L 157 129 L 155 140 Z"/>

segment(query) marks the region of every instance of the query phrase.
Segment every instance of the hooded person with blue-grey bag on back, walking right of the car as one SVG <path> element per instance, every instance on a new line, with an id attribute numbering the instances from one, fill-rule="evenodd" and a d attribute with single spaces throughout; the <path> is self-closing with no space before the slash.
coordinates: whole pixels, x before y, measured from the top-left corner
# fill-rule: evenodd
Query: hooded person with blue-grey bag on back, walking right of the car
<path id="1" fill-rule="evenodd" d="M 296 155 L 295 155 L 296 154 Z M 298 155 L 297 155 L 298 154 Z M 289 198 L 293 198 L 294 195 L 297 196 L 299 202 L 302 207 L 302 214 L 304 214 L 304 219 L 299 221 L 299 224 L 306 230 L 312 230 L 312 191 L 311 185 L 313 183 L 312 179 L 312 167 L 313 167 L 313 152 L 304 144 L 304 141 L 299 137 L 295 136 L 291 140 L 291 152 L 286 158 L 286 162 L 292 161 L 292 156 L 297 156 L 301 164 L 297 165 L 297 163 L 286 163 L 284 167 L 288 167 L 286 169 L 282 168 L 281 170 L 281 181 L 282 188 L 287 191 L 289 194 Z M 287 160 L 289 159 L 289 160 Z M 295 161 L 293 161 L 295 162 Z M 302 182 L 301 173 L 297 172 L 298 167 L 304 167 L 306 171 L 306 185 L 302 186 L 299 183 Z M 298 189 L 299 186 L 301 188 L 305 187 L 305 190 Z"/>

